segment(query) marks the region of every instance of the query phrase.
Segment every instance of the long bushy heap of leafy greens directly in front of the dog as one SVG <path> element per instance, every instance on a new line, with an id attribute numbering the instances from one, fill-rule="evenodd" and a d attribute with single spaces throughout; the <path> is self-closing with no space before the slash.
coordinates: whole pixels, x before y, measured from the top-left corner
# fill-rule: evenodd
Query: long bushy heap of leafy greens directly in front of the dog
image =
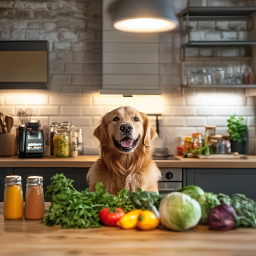
<path id="1" fill-rule="evenodd" d="M 135 209 L 157 207 L 165 195 L 156 192 L 129 192 L 122 189 L 117 196 L 108 194 L 103 184 L 98 182 L 95 192 L 88 189 L 78 192 L 72 185 L 74 180 L 63 174 L 56 174 L 47 187 L 46 199 L 51 201 L 48 215 L 45 217 L 47 226 L 61 225 L 62 228 L 99 228 L 98 216 L 102 208 L 120 207 L 124 212 Z"/>

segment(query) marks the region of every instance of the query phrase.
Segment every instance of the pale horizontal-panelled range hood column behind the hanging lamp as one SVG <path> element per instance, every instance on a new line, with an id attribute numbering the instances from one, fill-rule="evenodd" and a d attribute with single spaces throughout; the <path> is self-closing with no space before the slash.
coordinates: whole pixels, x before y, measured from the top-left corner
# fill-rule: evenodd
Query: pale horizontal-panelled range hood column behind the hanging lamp
<path id="1" fill-rule="evenodd" d="M 126 33 L 113 28 L 103 0 L 102 94 L 160 94 L 159 35 Z"/>

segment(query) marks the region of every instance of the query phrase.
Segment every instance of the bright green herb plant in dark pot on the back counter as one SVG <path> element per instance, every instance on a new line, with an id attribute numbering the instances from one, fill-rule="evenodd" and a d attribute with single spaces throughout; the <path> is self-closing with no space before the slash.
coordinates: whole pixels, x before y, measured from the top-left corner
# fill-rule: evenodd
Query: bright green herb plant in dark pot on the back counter
<path id="1" fill-rule="evenodd" d="M 248 127 L 242 123 L 244 118 L 233 114 L 227 120 L 228 130 L 231 142 L 231 152 L 238 152 L 239 154 L 249 154 L 248 146 Z"/>

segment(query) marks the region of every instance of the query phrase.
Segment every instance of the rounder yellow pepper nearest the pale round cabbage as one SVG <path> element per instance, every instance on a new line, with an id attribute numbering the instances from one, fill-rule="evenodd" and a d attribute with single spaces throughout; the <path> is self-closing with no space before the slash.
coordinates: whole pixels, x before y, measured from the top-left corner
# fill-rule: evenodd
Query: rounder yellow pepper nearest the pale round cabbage
<path id="1" fill-rule="evenodd" d="M 159 220 L 154 212 L 145 210 L 138 217 L 137 226 L 142 230 L 154 229 L 159 225 Z"/>

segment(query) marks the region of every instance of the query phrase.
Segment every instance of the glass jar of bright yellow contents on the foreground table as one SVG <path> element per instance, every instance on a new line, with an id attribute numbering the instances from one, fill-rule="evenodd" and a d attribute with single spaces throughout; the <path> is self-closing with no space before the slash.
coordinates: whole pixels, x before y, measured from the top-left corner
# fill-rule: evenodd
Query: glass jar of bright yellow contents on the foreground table
<path id="1" fill-rule="evenodd" d="M 6 220 L 21 219 L 23 217 L 21 176 L 6 176 L 4 186 L 4 218 Z"/>

